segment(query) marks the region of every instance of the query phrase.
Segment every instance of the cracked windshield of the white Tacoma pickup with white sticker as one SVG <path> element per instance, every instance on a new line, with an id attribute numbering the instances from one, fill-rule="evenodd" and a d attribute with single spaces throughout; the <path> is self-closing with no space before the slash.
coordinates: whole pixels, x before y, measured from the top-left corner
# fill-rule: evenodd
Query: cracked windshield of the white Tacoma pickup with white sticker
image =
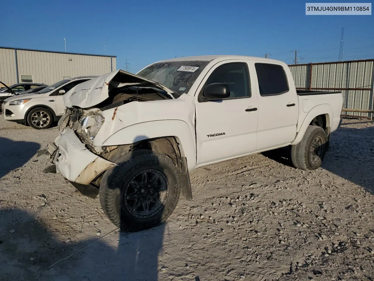
<path id="1" fill-rule="evenodd" d="M 154 63 L 137 75 L 159 82 L 179 96 L 187 93 L 209 61 L 167 61 Z"/>

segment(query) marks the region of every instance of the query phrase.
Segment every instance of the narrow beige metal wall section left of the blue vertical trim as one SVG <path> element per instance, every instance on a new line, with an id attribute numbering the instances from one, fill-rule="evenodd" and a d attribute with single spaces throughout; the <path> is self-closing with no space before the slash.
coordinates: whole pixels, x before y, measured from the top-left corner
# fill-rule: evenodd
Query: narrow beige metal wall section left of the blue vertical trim
<path id="1" fill-rule="evenodd" d="M 7 85 L 17 82 L 16 55 L 13 49 L 0 49 L 0 81 Z"/>

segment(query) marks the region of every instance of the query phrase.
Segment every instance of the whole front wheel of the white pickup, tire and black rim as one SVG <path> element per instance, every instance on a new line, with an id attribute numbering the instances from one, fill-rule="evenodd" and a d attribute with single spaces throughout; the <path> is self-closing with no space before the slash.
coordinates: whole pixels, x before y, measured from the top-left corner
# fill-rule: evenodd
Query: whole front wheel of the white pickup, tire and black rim
<path id="1" fill-rule="evenodd" d="M 165 221 L 180 196 L 180 170 L 165 154 L 139 149 L 122 155 L 101 180 L 101 208 L 126 231 L 148 229 Z"/>

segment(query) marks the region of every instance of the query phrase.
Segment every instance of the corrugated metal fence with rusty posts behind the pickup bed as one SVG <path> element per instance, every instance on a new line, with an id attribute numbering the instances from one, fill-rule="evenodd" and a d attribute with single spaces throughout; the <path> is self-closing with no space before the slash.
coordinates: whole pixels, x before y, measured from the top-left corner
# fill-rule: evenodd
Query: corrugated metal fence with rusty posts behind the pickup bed
<path id="1" fill-rule="evenodd" d="M 374 59 L 289 65 L 300 90 L 341 91 L 342 116 L 373 119 Z M 355 110 L 355 111 L 353 111 Z M 365 112 L 366 111 L 366 112 Z"/>

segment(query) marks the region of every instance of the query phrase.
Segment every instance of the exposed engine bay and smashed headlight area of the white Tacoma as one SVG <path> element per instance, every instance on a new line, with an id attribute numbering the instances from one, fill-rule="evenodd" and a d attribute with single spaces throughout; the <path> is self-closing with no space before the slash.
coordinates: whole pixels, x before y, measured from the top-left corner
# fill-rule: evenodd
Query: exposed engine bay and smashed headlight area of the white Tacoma
<path id="1" fill-rule="evenodd" d="M 136 83 L 132 83 L 136 84 Z M 79 139 L 96 154 L 109 152 L 116 148 L 93 146 L 93 139 L 104 124 L 102 112 L 116 108 L 130 102 L 146 102 L 153 100 L 171 99 L 163 90 L 153 87 L 140 87 L 126 85 L 124 87 L 110 87 L 108 98 L 92 108 L 78 108 L 76 106 L 67 108 L 65 115 L 59 121 L 59 130 L 70 128 L 74 130 Z"/>

